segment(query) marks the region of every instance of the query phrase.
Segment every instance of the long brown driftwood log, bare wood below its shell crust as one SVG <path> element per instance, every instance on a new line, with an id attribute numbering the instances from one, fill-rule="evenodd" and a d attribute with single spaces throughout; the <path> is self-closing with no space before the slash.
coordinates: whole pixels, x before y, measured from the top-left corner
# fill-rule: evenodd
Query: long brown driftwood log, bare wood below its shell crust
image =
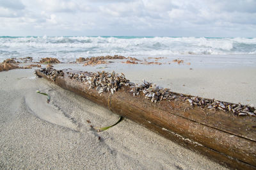
<path id="1" fill-rule="evenodd" d="M 36 70 L 36 75 L 49 79 Z M 256 117 L 235 116 L 223 111 L 193 107 L 188 102 L 163 100 L 152 103 L 143 95 L 133 96 L 127 86 L 99 94 L 95 88 L 64 76 L 55 84 L 92 100 L 180 145 L 207 155 L 232 169 L 256 169 Z"/>

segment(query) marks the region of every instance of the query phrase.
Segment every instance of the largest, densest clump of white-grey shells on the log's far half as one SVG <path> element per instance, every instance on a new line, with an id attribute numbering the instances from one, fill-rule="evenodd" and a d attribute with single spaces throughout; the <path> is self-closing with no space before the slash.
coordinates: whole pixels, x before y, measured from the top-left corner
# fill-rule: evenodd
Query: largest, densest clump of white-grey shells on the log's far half
<path id="1" fill-rule="evenodd" d="M 129 86 L 129 80 L 125 79 L 124 73 L 118 74 L 104 71 L 97 73 L 69 73 L 68 77 L 80 82 L 86 82 L 86 84 L 89 84 L 89 89 L 96 88 L 99 93 L 111 91 L 114 94 L 121 86 Z"/>

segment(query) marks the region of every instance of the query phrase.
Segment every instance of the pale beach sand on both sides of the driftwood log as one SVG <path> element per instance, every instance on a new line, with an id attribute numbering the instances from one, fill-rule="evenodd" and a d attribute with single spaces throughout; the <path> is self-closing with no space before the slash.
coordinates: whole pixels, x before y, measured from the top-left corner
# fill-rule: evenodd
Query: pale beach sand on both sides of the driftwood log
<path id="1" fill-rule="evenodd" d="M 179 93 L 256 105 L 255 68 L 192 67 L 189 70 L 191 67 L 115 63 L 54 66 L 115 70 L 125 73 L 132 82 L 146 79 Z M 90 125 L 105 127 L 115 123 L 118 116 L 52 82 L 36 78 L 33 72 L 0 72 L 1 168 L 225 169 L 129 120 L 104 132 L 95 132 Z M 47 97 L 36 90 L 48 93 L 51 102 L 47 104 Z"/>

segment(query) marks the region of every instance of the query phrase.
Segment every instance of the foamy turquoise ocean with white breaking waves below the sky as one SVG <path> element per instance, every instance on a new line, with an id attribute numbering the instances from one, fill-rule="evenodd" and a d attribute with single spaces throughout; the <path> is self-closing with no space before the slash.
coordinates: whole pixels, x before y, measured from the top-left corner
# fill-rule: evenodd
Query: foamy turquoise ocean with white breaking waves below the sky
<path id="1" fill-rule="evenodd" d="M 0 36 L 0 61 L 6 58 L 58 58 L 122 55 L 164 57 L 207 63 L 255 65 L 256 38 L 151 36 Z"/>

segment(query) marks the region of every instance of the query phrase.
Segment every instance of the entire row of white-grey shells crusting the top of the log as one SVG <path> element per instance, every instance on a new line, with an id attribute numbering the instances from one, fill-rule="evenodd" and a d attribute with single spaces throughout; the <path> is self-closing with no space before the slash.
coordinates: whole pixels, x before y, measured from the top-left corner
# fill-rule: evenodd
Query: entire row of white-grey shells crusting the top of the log
<path id="1" fill-rule="evenodd" d="M 53 81 L 58 76 L 63 76 L 62 70 L 55 70 L 53 68 L 40 68 L 40 72 L 43 72 Z M 188 102 L 193 107 L 200 107 L 202 109 L 209 109 L 211 111 L 224 111 L 232 112 L 236 116 L 256 116 L 256 108 L 242 104 L 230 104 L 228 102 L 221 102 L 215 99 L 206 99 L 200 97 L 192 97 L 189 95 L 182 95 L 180 93 L 173 93 L 168 88 L 161 88 L 155 83 L 147 82 L 143 80 L 141 84 L 134 84 L 125 78 L 124 73 L 109 73 L 109 72 L 80 72 L 72 73 L 68 72 L 70 79 L 88 84 L 89 89 L 95 88 L 99 93 L 110 92 L 112 94 L 122 86 L 128 86 L 131 88 L 132 95 L 143 95 L 151 102 L 159 102 L 161 100 Z"/>

